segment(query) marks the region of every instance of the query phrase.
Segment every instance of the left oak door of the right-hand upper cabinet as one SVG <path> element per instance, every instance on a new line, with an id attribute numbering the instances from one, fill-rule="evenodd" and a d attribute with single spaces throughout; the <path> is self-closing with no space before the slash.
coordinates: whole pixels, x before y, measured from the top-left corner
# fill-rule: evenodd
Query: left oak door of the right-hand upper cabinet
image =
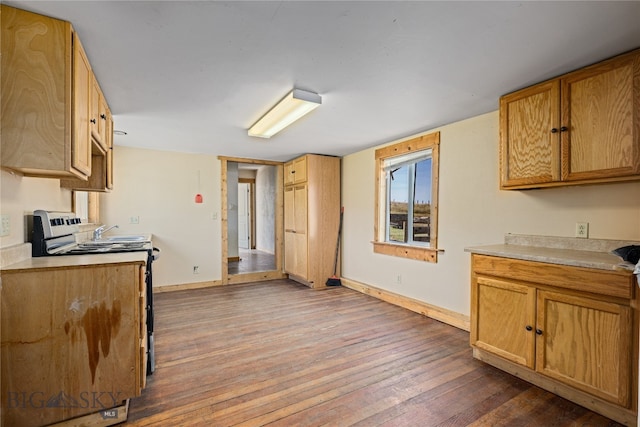
<path id="1" fill-rule="evenodd" d="M 542 83 L 500 98 L 500 185 L 560 179 L 560 84 Z"/>

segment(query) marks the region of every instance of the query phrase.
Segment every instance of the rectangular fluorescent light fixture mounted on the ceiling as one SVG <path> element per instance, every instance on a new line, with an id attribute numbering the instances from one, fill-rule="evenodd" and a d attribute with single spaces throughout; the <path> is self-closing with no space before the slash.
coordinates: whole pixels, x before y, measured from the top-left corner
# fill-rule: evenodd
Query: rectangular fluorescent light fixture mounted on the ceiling
<path id="1" fill-rule="evenodd" d="M 322 97 L 317 93 L 293 89 L 249 128 L 249 136 L 271 138 L 320 104 Z"/>

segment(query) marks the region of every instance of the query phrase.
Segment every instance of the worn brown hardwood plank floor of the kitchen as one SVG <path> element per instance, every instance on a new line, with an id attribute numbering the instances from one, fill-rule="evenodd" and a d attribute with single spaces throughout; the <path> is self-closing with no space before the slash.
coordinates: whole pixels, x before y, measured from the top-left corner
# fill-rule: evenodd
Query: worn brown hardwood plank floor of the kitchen
<path id="1" fill-rule="evenodd" d="M 465 331 L 288 280 L 160 293 L 135 426 L 617 426 L 474 360 Z"/>

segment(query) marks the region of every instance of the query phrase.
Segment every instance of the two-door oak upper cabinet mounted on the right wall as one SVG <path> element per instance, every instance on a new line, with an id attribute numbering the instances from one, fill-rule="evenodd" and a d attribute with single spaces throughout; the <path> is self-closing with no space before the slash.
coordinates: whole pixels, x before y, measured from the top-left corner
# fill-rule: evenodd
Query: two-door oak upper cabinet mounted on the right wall
<path id="1" fill-rule="evenodd" d="M 500 99 L 500 187 L 640 179 L 640 50 Z"/>

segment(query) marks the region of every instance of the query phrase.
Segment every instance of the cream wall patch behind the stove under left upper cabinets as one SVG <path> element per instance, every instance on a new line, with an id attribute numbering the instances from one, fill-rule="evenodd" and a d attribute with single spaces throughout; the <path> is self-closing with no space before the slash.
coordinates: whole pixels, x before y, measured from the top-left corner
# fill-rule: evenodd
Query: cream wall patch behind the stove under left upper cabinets
<path id="1" fill-rule="evenodd" d="M 25 216 L 36 209 L 68 212 L 71 191 L 60 188 L 59 179 L 30 178 L 0 170 L 0 214 L 9 215 L 11 234 L 0 237 L 0 248 L 31 239 L 27 236 Z"/>

